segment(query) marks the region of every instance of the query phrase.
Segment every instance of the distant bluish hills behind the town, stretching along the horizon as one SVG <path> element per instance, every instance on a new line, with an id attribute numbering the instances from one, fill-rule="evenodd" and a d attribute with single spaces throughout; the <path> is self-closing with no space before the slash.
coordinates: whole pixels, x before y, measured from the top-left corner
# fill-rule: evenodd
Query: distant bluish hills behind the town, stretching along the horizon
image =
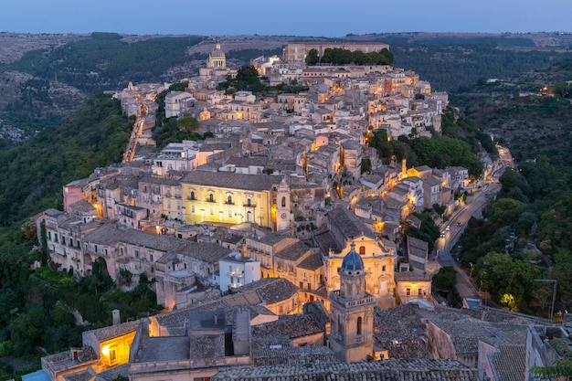
<path id="1" fill-rule="evenodd" d="M 433 90 L 455 94 L 481 78 L 512 78 L 572 58 L 569 34 L 397 33 L 348 35 L 336 41 L 384 41 L 395 65 L 418 72 Z M 129 81 L 175 82 L 195 76 L 218 41 L 228 66 L 281 55 L 292 36 L 16 35 L 0 33 L 0 146 L 54 126 L 90 95 Z M 333 39 L 333 38 L 330 38 Z"/>

